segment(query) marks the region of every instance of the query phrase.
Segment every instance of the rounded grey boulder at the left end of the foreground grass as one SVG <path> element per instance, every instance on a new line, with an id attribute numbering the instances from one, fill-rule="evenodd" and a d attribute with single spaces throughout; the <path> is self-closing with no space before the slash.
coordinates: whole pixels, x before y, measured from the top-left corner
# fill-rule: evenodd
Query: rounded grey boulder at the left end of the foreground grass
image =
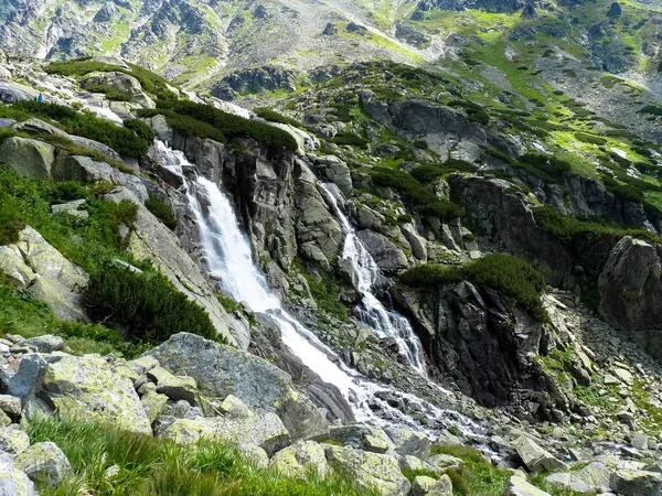
<path id="1" fill-rule="evenodd" d="M 30 479 L 46 484 L 49 487 L 58 487 L 72 471 L 66 455 L 52 442 L 31 445 L 17 455 L 14 464 Z"/>

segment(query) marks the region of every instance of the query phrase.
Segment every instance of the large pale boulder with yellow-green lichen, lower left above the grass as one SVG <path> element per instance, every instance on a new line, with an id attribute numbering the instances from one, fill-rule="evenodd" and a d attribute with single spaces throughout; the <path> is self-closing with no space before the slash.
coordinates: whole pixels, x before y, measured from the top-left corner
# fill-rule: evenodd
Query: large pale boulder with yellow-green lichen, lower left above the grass
<path id="1" fill-rule="evenodd" d="M 100 421 L 138 434 L 151 434 L 150 421 L 132 380 L 122 368 L 102 357 L 55 352 L 50 357 L 42 388 L 64 419 Z"/>

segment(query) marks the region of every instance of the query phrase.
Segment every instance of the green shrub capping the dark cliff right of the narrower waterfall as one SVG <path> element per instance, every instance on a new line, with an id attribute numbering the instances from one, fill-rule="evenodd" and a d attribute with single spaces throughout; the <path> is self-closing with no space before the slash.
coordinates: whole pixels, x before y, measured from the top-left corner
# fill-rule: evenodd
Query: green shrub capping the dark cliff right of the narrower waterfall
<path id="1" fill-rule="evenodd" d="M 536 319 L 548 320 L 540 298 L 545 289 L 545 277 L 517 257 L 491 254 L 462 267 L 427 263 L 398 277 L 399 282 L 415 288 L 434 288 L 463 280 L 500 291 Z"/>

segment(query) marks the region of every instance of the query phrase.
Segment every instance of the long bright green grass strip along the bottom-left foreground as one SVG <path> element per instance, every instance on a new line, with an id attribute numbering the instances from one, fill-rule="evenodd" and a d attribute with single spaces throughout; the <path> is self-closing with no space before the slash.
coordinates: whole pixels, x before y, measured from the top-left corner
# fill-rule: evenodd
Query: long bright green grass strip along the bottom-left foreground
<path id="1" fill-rule="evenodd" d="M 376 496 L 357 489 L 351 477 L 331 472 L 290 478 L 258 468 L 227 444 L 202 441 L 182 446 L 110 425 L 35 418 L 31 443 L 52 441 L 70 460 L 73 474 L 43 496 L 75 496 L 82 488 L 114 496 Z M 116 477 L 104 472 L 117 465 Z"/>

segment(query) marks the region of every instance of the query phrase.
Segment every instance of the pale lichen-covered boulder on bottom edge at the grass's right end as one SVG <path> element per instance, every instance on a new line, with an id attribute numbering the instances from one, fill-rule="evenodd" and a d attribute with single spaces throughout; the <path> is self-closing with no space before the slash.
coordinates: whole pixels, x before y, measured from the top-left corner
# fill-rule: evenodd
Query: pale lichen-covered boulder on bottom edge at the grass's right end
<path id="1" fill-rule="evenodd" d="M 346 471 L 357 487 L 364 490 L 374 487 L 384 496 L 401 496 L 409 492 L 409 481 L 391 456 L 333 445 L 324 446 L 324 452 L 329 465 Z"/>

